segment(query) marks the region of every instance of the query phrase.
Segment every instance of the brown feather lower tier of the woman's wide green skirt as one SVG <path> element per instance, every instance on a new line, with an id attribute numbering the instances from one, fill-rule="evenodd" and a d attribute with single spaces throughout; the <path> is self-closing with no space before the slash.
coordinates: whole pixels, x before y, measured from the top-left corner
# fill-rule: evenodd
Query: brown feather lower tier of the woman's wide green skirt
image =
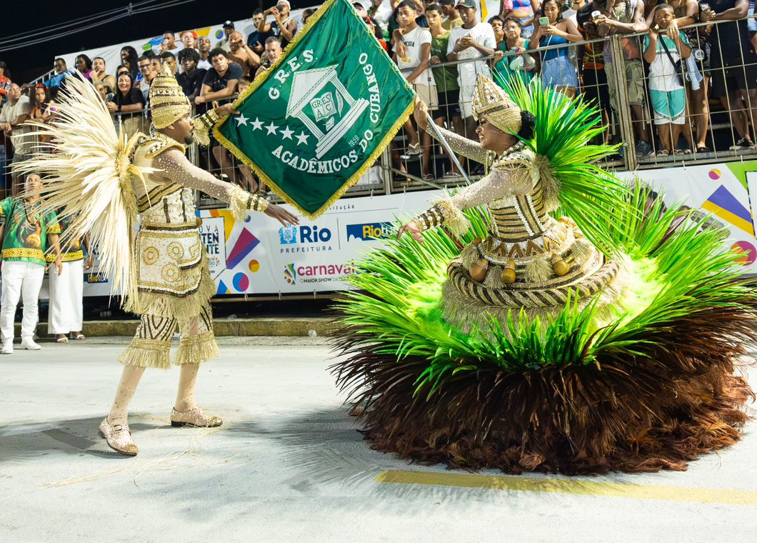
<path id="1" fill-rule="evenodd" d="M 332 366 L 372 448 L 419 463 L 506 473 L 685 470 L 733 445 L 752 390 L 734 374 L 754 335 L 752 311 L 712 307 L 639 339 L 634 357 L 504 370 L 492 364 L 415 395 L 423 357 L 378 354 L 355 327 L 339 332 Z M 360 342 L 358 342 L 360 339 Z M 643 340 L 643 342 L 641 341 Z M 374 350 L 375 349 L 375 350 Z"/>

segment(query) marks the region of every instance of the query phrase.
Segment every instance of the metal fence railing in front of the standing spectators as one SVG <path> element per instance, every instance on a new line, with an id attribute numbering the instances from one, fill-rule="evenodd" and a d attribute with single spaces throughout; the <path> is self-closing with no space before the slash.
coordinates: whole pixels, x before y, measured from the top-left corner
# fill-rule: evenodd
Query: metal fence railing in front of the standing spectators
<path id="1" fill-rule="evenodd" d="M 428 96 L 428 87 L 435 86 L 437 103 L 432 116 L 439 126 L 470 139 L 477 139 L 470 107 L 478 73 L 495 81 L 512 76 L 539 77 L 544 84 L 559 86 L 562 92 L 580 94 L 597 105 L 606 126 L 598 142 L 619 145 L 618 154 L 603 161 L 609 170 L 757 158 L 755 139 L 749 136 L 757 127 L 757 38 L 746 30 L 746 19 L 698 23 L 681 30 L 691 54 L 690 60 L 681 59 L 680 80 L 671 72 L 673 64 L 668 55 L 658 51 L 651 63 L 643 60 L 649 33 L 640 33 L 529 49 L 528 57 L 535 64 L 530 74 L 522 67 L 531 61 L 522 52 L 512 51 L 433 65 L 433 69 L 450 69 L 462 83 L 456 97 L 455 92 L 440 88 L 431 70 L 413 86 L 422 96 Z M 586 62 L 587 51 L 602 51 L 602 63 Z M 671 51 L 671 56 L 675 60 L 678 51 Z M 545 65 L 553 58 L 567 59 L 560 62 L 557 76 L 551 68 L 545 73 Z M 675 81 L 678 85 L 673 84 Z M 433 98 L 429 96 L 428 100 Z M 149 110 L 120 114 L 114 122 L 126 130 L 146 130 Z M 208 148 L 194 146 L 189 156 L 219 179 L 253 192 L 266 192 L 254 173 L 217 142 Z M 481 164 L 463 161 L 463 167 L 474 179 L 484 173 Z M 409 122 L 346 196 L 391 194 L 462 182 L 441 145 Z M 276 199 L 270 193 L 269 198 Z M 198 204 L 204 208 L 220 203 L 202 195 Z"/>

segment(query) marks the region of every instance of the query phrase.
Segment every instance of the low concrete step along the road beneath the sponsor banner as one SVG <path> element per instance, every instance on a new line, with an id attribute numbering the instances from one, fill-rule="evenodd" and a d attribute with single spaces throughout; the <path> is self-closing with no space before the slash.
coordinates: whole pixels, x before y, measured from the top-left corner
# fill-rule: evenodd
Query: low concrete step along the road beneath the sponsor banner
<path id="1" fill-rule="evenodd" d="M 84 335 L 89 337 L 108 335 L 134 335 L 138 320 L 87 320 L 84 322 Z M 316 335 L 331 335 L 338 329 L 338 323 L 330 317 L 273 317 L 260 319 L 228 319 L 213 320 L 213 331 L 217 336 L 254 336 L 254 335 L 308 335 L 310 330 Z M 21 333 L 20 324 L 15 325 L 15 335 Z M 48 338 L 47 323 L 39 323 L 37 335 Z"/>

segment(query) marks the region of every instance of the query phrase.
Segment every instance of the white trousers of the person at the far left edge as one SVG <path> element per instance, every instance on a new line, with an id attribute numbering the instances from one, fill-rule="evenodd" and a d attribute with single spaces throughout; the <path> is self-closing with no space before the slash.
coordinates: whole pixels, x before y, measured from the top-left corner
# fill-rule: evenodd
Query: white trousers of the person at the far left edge
<path id="1" fill-rule="evenodd" d="M 55 272 L 53 272 L 55 273 Z M 0 337 L 2 342 L 13 341 L 13 319 L 19 299 L 23 299 L 21 338 L 31 339 L 39 317 L 39 289 L 45 267 L 31 262 L 3 261 L 2 295 L 0 295 Z"/>

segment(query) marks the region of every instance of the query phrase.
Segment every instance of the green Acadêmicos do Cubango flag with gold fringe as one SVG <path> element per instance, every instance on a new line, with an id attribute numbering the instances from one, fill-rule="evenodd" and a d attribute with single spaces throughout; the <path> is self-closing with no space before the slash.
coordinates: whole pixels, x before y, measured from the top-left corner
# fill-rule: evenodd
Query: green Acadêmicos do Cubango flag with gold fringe
<path id="1" fill-rule="evenodd" d="M 213 133 L 315 218 L 372 166 L 410 116 L 413 96 L 352 5 L 328 0 Z"/>

